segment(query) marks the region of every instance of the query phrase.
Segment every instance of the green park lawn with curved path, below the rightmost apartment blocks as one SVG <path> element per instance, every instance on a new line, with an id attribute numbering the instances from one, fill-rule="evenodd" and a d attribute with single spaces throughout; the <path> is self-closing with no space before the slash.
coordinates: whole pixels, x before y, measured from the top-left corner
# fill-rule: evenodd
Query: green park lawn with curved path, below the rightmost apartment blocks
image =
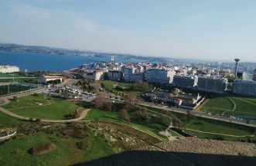
<path id="1" fill-rule="evenodd" d="M 234 117 L 256 118 L 256 99 L 247 97 L 215 97 L 202 107 L 207 113 Z"/>

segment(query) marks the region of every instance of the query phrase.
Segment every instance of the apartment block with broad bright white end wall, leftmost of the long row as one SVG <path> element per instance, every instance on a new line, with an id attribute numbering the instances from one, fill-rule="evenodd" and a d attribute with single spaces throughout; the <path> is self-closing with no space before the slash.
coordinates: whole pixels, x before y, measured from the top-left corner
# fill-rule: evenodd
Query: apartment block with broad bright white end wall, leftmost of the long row
<path id="1" fill-rule="evenodd" d="M 146 77 L 148 83 L 169 84 L 172 83 L 175 74 L 176 72 L 172 69 L 148 69 Z"/>

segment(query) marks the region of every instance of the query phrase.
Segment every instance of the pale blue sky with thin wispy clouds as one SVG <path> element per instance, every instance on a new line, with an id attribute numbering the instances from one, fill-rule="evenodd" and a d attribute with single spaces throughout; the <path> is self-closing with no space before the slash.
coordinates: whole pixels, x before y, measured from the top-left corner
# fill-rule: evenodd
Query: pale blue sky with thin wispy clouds
<path id="1" fill-rule="evenodd" d="M 256 62 L 255 0 L 1 0 L 0 42 Z"/>

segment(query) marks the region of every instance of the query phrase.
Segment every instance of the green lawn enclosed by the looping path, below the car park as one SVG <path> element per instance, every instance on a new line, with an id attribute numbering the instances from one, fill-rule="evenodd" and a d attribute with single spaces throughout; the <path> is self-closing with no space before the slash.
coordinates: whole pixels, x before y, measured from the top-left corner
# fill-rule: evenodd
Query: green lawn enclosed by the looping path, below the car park
<path id="1" fill-rule="evenodd" d="M 43 103 L 43 105 L 38 106 L 37 102 Z M 49 102 L 43 98 L 43 95 L 39 95 L 39 97 L 26 96 L 20 97 L 19 101 L 12 101 L 4 107 L 24 117 L 49 120 L 63 120 L 64 115 L 73 113 L 77 107 L 80 111 L 84 110 L 83 107 L 68 100 L 51 98 Z"/>

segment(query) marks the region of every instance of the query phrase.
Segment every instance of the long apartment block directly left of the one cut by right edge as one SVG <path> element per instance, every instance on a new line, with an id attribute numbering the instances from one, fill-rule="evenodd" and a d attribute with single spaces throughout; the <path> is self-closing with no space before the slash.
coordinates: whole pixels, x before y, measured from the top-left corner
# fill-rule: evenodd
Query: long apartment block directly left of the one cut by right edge
<path id="1" fill-rule="evenodd" d="M 227 90 L 227 79 L 217 76 L 199 76 L 197 83 L 197 90 L 224 93 Z"/>

